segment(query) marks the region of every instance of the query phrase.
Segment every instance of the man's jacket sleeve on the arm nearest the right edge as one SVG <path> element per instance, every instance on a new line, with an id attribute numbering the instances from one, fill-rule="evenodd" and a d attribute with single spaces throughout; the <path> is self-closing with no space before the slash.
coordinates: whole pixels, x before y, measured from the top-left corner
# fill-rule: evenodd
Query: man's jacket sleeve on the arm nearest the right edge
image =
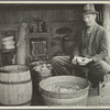
<path id="1" fill-rule="evenodd" d="M 103 31 L 101 38 L 99 41 L 99 51 L 98 54 L 96 54 L 92 59 L 94 62 L 100 61 L 100 59 L 105 59 L 108 54 L 109 54 L 109 50 L 108 50 L 109 43 L 108 43 L 108 36 L 107 36 L 107 32 Z"/>

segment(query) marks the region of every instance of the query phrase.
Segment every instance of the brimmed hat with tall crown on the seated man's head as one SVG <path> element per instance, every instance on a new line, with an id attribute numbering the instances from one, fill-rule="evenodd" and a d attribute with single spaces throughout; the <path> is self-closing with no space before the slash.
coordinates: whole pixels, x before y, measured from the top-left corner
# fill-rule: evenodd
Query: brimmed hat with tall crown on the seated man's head
<path id="1" fill-rule="evenodd" d="M 99 12 L 95 10 L 95 6 L 92 3 L 88 3 L 84 6 L 82 15 L 86 14 L 98 14 Z"/>

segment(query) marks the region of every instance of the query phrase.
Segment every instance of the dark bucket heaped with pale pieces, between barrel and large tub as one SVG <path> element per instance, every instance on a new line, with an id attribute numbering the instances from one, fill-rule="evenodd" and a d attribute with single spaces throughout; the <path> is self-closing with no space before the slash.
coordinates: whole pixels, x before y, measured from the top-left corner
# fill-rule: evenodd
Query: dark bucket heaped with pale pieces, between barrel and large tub
<path id="1" fill-rule="evenodd" d="M 47 61 L 37 61 L 30 64 L 30 72 L 31 72 L 32 84 L 33 84 L 33 100 L 36 100 L 38 98 L 38 102 L 37 100 L 35 102 L 40 105 L 43 102 L 42 102 L 41 92 L 38 90 L 38 82 L 52 76 L 51 69 L 45 68 L 45 66 L 48 65 L 51 66 L 51 64 Z"/>

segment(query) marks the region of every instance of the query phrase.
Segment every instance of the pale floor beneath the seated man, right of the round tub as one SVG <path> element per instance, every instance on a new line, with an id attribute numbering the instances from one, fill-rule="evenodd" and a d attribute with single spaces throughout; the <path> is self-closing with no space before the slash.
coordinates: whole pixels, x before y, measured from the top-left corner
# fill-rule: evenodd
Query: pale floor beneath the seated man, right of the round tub
<path id="1" fill-rule="evenodd" d="M 110 107 L 110 82 L 107 82 L 106 86 L 101 88 L 100 96 L 98 96 L 96 89 L 90 88 L 88 97 L 88 106 Z"/>

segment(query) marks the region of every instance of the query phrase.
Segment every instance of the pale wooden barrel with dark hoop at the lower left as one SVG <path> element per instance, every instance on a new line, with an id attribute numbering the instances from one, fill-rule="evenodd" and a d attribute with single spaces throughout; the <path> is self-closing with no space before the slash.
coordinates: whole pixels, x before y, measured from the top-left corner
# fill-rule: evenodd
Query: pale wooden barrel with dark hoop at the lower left
<path id="1" fill-rule="evenodd" d="M 26 66 L 10 65 L 0 68 L 0 105 L 28 106 L 32 99 L 32 79 Z"/>

